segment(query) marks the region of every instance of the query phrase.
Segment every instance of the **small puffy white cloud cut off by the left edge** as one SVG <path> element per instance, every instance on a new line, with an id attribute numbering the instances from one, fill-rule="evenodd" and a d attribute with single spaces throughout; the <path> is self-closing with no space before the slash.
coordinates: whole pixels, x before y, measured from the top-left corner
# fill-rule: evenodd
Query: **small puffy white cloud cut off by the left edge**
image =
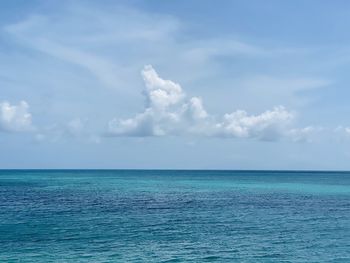
<path id="1" fill-rule="evenodd" d="M 21 132 L 30 131 L 32 126 L 32 115 L 29 113 L 29 105 L 21 101 L 18 105 L 9 102 L 0 102 L 0 131 Z"/>

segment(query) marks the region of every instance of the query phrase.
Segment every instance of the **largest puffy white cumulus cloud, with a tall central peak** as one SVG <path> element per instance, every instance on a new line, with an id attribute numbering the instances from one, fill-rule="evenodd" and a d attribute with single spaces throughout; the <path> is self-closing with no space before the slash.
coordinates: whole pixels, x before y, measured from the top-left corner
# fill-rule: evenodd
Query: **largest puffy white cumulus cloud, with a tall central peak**
<path id="1" fill-rule="evenodd" d="M 196 134 L 260 140 L 290 136 L 294 114 L 283 106 L 259 115 L 237 110 L 217 118 L 207 113 L 200 98 L 186 98 L 179 84 L 160 78 L 152 66 L 145 66 L 142 76 L 146 86 L 145 110 L 132 118 L 110 121 L 110 136 Z"/>

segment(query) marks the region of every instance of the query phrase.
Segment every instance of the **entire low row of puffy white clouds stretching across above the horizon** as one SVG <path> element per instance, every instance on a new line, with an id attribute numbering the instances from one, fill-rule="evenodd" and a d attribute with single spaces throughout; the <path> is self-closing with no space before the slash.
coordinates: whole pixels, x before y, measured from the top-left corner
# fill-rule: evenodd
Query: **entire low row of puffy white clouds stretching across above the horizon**
<path id="1" fill-rule="evenodd" d="M 29 104 L 24 100 L 18 105 L 0 102 L 0 132 L 32 132 L 37 141 L 71 138 L 94 143 L 102 137 L 200 136 L 293 142 L 311 142 L 320 134 L 350 137 L 350 128 L 345 126 L 294 127 L 296 113 L 284 106 L 255 115 L 236 110 L 217 116 L 208 113 L 200 97 L 189 97 L 180 84 L 161 78 L 151 65 L 144 66 L 141 75 L 145 85 L 144 110 L 130 118 L 110 120 L 106 132 L 93 132 L 88 120 L 81 118 L 34 126 Z"/>

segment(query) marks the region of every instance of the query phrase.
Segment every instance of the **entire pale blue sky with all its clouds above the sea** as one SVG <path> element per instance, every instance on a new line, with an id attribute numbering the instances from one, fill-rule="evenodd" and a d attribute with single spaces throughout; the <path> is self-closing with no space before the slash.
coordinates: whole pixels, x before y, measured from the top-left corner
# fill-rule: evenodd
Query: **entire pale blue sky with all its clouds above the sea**
<path id="1" fill-rule="evenodd" d="M 0 168 L 350 170 L 350 2 L 0 2 Z"/>

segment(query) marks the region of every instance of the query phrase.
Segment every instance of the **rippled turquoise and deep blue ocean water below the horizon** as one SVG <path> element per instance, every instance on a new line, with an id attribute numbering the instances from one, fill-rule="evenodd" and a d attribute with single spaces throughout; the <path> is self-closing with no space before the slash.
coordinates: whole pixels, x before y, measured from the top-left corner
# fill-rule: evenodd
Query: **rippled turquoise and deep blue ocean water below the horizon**
<path id="1" fill-rule="evenodd" d="M 3 170 L 0 262 L 350 262 L 350 173 Z"/>

